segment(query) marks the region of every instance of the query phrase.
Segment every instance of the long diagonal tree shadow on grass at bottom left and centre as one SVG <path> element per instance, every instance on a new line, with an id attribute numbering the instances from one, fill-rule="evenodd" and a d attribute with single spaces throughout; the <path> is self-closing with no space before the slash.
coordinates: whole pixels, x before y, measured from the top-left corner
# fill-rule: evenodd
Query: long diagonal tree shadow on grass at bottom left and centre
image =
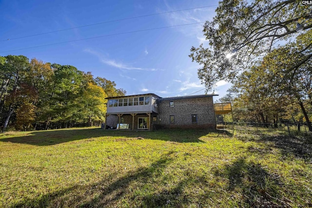
<path id="1" fill-rule="evenodd" d="M 117 180 L 111 176 L 96 184 L 77 185 L 40 195 L 34 199 L 25 198 L 11 207 L 165 207 L 177 200 L 183 192 L 183 186 L 187 183 L 181 181 L 170 190 L 156 193 L 154 186 L 157 184 L 154 180 L 157 180 L 172 162 L 173 153 L 170 151 L 149 167 L 130 171 Z M 146 185 L 151 183 L 152 185 Z M 187 199 L 180 199 L 177 207 L 188 207 L 187 203 Z"/>

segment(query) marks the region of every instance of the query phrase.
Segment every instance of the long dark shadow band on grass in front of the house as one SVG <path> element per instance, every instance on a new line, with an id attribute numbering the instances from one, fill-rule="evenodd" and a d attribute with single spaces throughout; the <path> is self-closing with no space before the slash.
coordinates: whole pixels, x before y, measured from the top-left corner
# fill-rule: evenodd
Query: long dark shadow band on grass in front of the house
<path id="1" fill-rule="evenodd" d="M 23 136 L 0 139 L 1 142 L 12 142 L 20 144 L 30 144 L 36 146 L 49 146 L 59 143 L 70 142 L 80 139 L 97 138 L 103 136 L 120 136 L 129 138 L 144 138 L 155 139 L 172 142 L 204 142 L 199 138 L 207 135 L 210 132 L 215 132 L 217 136 L 232 136 L 226 131 L 211 131 L 211 130 L 159 130 L 155 132 L 144 131 L 118 131 L 118 130 L 102 130 L 102 129 L 61 129 L 50 131 L 29 132 Z M 4 134 L 5 135 L 5 134 Z"/>

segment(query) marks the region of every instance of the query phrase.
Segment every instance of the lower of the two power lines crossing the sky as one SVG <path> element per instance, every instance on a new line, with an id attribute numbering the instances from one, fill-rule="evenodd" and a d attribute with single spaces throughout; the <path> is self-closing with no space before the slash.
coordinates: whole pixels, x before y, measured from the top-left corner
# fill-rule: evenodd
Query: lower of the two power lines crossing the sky
<path id="1" fill-rule="evenodd" d="M 10 51 L 1 51 L 0 53 L 6 53 L 6 52 L 12 52 L 12 51 L 20 51 L 20 50 L 31 49 L 31 48 L 39 48 L 39 47 L 50 46 L 50 45 L 58 45 L 58 44 L 62 44 L 62 43 L 76 42 L 76 41 L 80 41 L 80 40 L 104 38 L 104 37 L 109 37 L 109 36 L 117 36 L 117 35 L 129 34 L 129 33 L 137 33 L 137 32 L 158 30 L 158 29 L 164 29 L 164 28 L 170 28 L 170 27 L 179 27 L 179 26 L 185 26 L 185 25 L 201 24 L 201 23 L 205 23 L 205 22 L 195 22 L 195 23 L 189 23 L 189 24 L 179 24 L 179 25 L 173 25 L 173 26 L 157 27 L 157 28 L 150 28 L 150 29 L 144 29 L 144 30 L 136 30 L 136 31 L 124 32 L 124 33 L 116 33 L 116 34 L 110 34 L 110 35 L 105 35 L 105 36 L 97 36 L 97 37 L 92 37 L 92 38 L 83 38 L 83 39 L 77 39 L 77 40 L 69 40 L 69 41 L 64 41 L 64 42 L 51 43 L 51 44 L 33 46 L 33 47 L 28 47 L 28 48 L 20 48 L 20 49 L 15 49 L 15 50 L 10 50 Z"/>

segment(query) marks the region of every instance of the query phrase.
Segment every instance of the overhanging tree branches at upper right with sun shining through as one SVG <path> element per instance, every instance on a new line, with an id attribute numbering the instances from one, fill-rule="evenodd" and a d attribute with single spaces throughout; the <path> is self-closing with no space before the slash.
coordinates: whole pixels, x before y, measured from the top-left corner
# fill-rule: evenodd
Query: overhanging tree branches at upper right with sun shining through
<path id="1" fill-rule="evenodd" d="M 198 62 L 198 76 L 207 89 L 219 80 L 233 81 L 240 71 L 247 71 L 277 46 L 277 41 L 292 41 L 296 23 L 304 22 L 302 57 L 288 70 L 293 71 L 312 58 L 311 14 L 299 0 L 223 0 L 219 1 L 213 21 L 203 32 L 209 47 L 192 47 Z M 231 57 L 232 56 L 232 57 Z"/>

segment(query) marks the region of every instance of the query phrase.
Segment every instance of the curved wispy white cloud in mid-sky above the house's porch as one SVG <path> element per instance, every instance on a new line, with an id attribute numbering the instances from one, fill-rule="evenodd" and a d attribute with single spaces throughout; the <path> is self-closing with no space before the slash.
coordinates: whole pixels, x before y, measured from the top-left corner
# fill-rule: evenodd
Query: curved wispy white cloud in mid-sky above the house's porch
<path id="1" fill-rule="evenodd" d="M 163 70 L 159 70 L 159 69 L 155 69 L 155 68 L 141 68 L 141 67 L 133 67 L 133 66 L 130 66 L 128 64 L 124 64 L 122 62 L 117 62 L 115 59 L 109 59 L 107 57 L 105 57 L 104 55 L 96 52 L 96 51 L 93 51 L 93 50 L 90 50 L 90 49 L 85 49 L 84 52 L 87 52 L 87 53 L 90 53 L 90 54 L 93 54 L 95 56 L 98 57 L 98 59 L 106 64 L 106 65 L 109 65 L 109 66 L 112 66 L 112 67 L 115 67 L 115 68 L 118 68 L 118 69 L 123 69 L 123 70 L 140 70 L 140 71 L 163 71 Z"/>

